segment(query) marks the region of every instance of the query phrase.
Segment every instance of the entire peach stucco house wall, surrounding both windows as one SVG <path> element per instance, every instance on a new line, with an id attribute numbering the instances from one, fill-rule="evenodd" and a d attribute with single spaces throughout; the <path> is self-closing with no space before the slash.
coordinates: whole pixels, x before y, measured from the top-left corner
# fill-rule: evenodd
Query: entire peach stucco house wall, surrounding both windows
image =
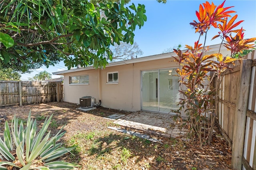
<path id="1" fill-rule="evenodd" d="M 212 51 L 208 54 L 217 53 Z M 223 56 L 230 55 L 230 51 L 222 50 Z M 162 57 L 159 59 L 158 57 Z M 155 60 L 126 63 L 118 62 L 105 69 L 85 69 L 83 71 L 64 73 L 64 101 L 78 103 L 82 96 L 93 96 L 102 101 L 101 106 L 118 110 L 137 111 L 142 107 L 142 80 L 141 72 L 144 70 L 158 70 L 177 68 L 178 64 L 171 57 L 174 54 L 160 54 Z M 170 57 L 169 57 L 170 56 Z M 135 59 L 136 60 L 136 59 Z M 118 72 L 118 83 L 107 83 L 107 73 Z M 70 85 L 70 76 L 89 75 L 88 85 Z M 150 95 L 150 94 L 149 94 Z M 144 96 L 145 97 L 145 96 Z"/>

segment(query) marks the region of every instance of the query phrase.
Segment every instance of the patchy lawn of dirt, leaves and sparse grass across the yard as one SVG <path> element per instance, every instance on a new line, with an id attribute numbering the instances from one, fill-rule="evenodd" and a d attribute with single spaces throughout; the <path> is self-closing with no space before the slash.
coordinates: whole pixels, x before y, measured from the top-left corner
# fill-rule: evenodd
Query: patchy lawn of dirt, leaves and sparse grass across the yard
<path id="1" fill-rule="evenodd" d="M 116 126 L 113 120 L 104 117 L 130 112 L 98 107 L 83 112 L 79 106 L 68 102 L 52 102 L 24 106 L 1 107 L 0 115 L 8 122 L 14 114 L 26 122 L 30 109 L 32 118 L 39 126 L 44 119 L 54 114 L 49 130 L 56 134 L 64 124 L 66 134 L 61 139 L 66 147 L 77 146 L 65 160 L 80 164 L 86 170 L 231 170 L 231 151 L 218 129 L 212 146 L 198 148 L 191 142 L 163 138 L 163 144 L 150 142 L 135 136 L 107 128 Z M 120 126 L 116 126 L 120 127 Z M 0 137 L 3 136 L 4 122 L 0 122 Z M 152 135 L 151 135 L 152 136 Z"/>

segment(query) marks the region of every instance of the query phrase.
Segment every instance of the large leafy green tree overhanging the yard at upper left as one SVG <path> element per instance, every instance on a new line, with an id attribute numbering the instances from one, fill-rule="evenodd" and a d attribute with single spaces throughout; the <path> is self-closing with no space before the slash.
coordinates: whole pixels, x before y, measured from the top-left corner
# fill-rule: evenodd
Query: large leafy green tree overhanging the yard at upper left
<path id="1" fill-rule="evenodd" d="M 59 60 L 68 69 L 105 67 L 110 45 L 133 44 L 134 30 L 147 19 L 144 5 L 124 1 L 2 0 L 0 11 L 0 68 L 22 72 Z"/>

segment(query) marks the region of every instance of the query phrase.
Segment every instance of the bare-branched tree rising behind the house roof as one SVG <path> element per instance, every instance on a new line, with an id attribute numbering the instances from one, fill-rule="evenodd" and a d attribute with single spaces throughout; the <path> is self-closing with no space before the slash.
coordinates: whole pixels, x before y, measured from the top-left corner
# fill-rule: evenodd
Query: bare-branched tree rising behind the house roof
<path id="1" fill-rule="evenodd" d="M 134 44 L 121 42 L 120 45 L 115 44 L 110 50 L 113 53 L 113 60 L 128 60 L 143 54 L 136 42 Z"/>

